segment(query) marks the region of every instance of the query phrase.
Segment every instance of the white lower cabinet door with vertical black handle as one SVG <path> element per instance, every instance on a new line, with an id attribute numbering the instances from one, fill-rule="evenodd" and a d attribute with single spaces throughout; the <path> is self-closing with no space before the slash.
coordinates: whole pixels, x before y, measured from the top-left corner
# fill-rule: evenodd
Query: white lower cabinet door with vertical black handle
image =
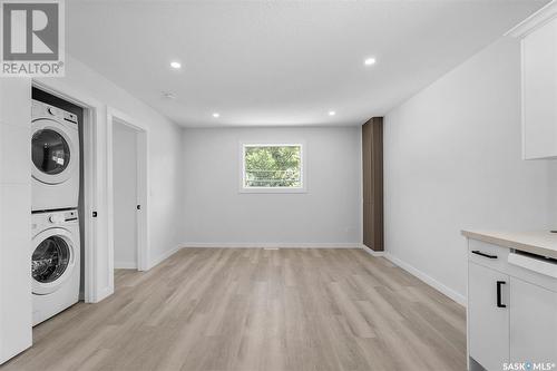
<path id="1" fill-rule="evenodd" d="M 509 362 L 509 276 L 468 263 L 470 357 L 486 370 Z"/>

